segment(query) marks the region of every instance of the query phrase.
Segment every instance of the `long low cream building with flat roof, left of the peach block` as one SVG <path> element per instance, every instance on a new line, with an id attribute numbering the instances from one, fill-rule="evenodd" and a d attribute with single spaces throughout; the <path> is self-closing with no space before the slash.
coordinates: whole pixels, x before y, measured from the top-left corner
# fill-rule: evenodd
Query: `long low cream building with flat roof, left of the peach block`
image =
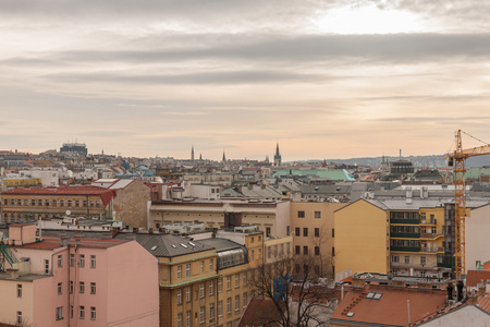
<path id="1" fill-rule="evenodd" d="M 266 237 L 283 238 L 290 230 L 290 203 L 283 201 L 154 201 L 150 227 L 204 222 L 206 228 L 258 227 Z"/>

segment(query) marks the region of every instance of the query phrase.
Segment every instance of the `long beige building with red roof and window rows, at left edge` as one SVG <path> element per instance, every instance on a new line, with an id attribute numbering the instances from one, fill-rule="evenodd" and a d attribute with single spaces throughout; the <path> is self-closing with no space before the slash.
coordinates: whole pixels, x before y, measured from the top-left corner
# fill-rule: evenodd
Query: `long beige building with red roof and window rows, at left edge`
<path id="1" fill-rule="evenodd" d="M 13 223 L 62 217 L 69 210 L 76 217 L 113 219 L 115 194 L 114 190 L 97 186 L 17 187 L 1 194 L 1 217 L 3 222 Z"/>

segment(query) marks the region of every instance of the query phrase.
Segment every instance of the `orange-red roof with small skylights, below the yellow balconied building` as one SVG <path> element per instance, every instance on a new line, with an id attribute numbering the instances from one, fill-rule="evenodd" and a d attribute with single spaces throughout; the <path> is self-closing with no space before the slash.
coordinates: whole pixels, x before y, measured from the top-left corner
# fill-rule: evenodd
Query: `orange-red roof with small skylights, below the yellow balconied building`
<path id="1" fill-rule="evenodd" d="M 382 295 L 379 300 L 366 299 L 369 292 Z M 416 322 L 442 310 L 446 302 L 446 291 L 367 284 L 363 289 L 352 289 L 331 319 L 332 323 L 343 320 L 350 324 L 407 326 L 407 301 L 411 322 Z M 348 313 L 354 315 L 348 317 Z"/>

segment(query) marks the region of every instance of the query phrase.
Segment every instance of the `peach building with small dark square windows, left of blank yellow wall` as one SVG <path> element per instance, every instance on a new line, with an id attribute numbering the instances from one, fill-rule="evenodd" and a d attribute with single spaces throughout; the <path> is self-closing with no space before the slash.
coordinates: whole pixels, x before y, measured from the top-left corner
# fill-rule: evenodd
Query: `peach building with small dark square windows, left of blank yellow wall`
<path id="1" fill-rule="evenodd" d="M 335 254 L 333 213 L 344 206 L 344 203 L 291 202 L 294 255 L 313 257 L 319 277 L 332 277 Z"/>

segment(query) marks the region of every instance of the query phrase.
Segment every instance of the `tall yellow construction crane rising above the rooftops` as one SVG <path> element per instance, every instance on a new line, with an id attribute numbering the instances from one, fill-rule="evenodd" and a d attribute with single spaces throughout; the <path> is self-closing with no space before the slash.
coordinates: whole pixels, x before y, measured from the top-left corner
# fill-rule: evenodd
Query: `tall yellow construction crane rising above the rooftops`
<path id="1" fill-rule="evenodd" d="M 466 218 L 466 201 L 465 201 L 465 159 L 469 157 L 483 156 L 490 154 L 490 144 L 485 143 L 483 146 L 463 149 L 461 134 L 464 133 L 479 142 L 468 133 L 457 130 L 456 132 L 456 149 L 448 155 L 448 166 L 454 166 L 454 206 L 455 206 L 455 272 L 456 279 L 460 275 L 466 272 L 465 269 L 465 218 Z"/>

